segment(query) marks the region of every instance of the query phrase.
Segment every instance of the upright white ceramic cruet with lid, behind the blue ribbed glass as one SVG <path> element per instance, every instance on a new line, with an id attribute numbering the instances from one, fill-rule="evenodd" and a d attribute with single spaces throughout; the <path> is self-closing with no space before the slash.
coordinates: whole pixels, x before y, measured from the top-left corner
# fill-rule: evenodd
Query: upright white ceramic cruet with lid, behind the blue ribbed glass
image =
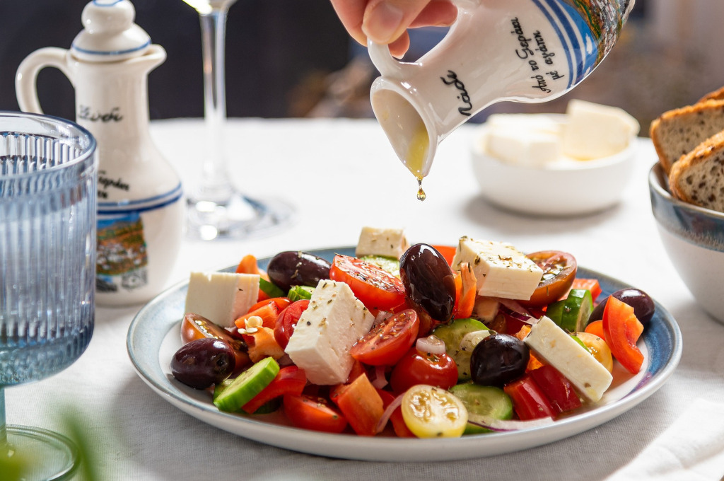
<path id="1" fill-rule="evenodd" d="M 38 72 L 55 67 L 75 88 L 76 121 L 98 141 L 96 302 L 155 296 L 177 258 L 183 230 L 178 175 L 148 133 L 148 72 L 166 59 L 134 23 L 128 0 L 93 0 L 69 50 L 46 47 L 17 70 L 20 108 L 41 113 Z"/>

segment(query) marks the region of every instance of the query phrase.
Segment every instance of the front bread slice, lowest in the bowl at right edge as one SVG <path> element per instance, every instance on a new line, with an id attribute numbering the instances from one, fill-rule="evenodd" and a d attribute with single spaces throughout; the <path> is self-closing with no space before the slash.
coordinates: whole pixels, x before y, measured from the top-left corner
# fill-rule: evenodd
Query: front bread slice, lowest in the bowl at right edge
<path id="1" fill-rule="evenodd" d="M 684 202 L 724 212 L 724 132 L 700 143 L 673 164 L 669 188 Z"/>

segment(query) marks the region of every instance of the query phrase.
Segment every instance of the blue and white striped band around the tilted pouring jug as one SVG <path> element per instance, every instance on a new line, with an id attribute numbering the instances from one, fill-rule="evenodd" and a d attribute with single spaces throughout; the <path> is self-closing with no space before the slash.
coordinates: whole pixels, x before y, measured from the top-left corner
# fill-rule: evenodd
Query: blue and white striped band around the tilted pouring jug
<path id="1" fill-rule="evenodd" d="M 547 17 L 565 48 L 568 88 L 583 80 L 596 66 L 598 48 L 589 26 L 575 8 L 560 0 L 533 0 Z M 575 68 L 575 70 L 574 70 Z"/>

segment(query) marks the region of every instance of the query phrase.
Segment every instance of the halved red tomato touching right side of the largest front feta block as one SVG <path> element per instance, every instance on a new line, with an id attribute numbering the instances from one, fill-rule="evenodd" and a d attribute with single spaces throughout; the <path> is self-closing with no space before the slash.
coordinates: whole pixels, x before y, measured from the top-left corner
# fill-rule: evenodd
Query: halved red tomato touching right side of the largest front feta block
<path id="1" fill-rule="evenodd" d="M 350 349 L 350 355 L 371 366 L 392 366 L 411 348 L 417 339 L 420 321 L 413 309 L 392 314 L 372 327 Z"/>

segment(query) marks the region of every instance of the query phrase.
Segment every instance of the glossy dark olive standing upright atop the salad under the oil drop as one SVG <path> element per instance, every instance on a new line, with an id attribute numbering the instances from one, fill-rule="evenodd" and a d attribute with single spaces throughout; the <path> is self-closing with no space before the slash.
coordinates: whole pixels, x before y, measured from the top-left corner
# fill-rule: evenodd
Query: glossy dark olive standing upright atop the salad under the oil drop
<path id="1" fill-rule="evenodd" d="M 452 319 L 455 277 L 450 265 L 434 247 L 415 244 L 400 259 L 400 279 L 408 302 L 438 322 Z"/>

